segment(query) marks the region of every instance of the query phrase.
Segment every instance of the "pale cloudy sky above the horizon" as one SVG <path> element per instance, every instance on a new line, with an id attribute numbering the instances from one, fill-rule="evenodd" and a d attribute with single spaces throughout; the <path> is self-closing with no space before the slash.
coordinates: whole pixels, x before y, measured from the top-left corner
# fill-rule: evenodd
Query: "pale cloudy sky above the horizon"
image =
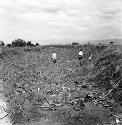
<path id="1" fill-rule="evenodd" d="M 122 38 L 122 0 L 0 0 L 0 40 Z"/>

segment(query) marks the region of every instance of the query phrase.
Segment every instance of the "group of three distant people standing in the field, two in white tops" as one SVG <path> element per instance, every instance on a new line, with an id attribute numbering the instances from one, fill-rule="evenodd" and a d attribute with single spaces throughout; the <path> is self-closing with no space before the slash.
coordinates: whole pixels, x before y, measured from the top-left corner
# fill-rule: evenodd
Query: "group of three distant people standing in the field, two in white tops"
<path id="1" fill-rule="evenodd" d="M 78 52 L 78 60 L 80 61 L 80 65 L 82 65 L 83 57 L 84 57 L 83 50 L 80 49 L 80 51 Z M 53 63 L 56 63 L 56 59 L 57 59 L 57 54 L 56 54 L 56 52 L 54 51 L 54 52 L 52 53 L 52 61 L 53 61 Z M 92 54 L 91 54 L 90 52 L 89 52 L 89 54 L 88 54 L 88 59 L 89 59 L 89 60 L 92 59 Z"/>

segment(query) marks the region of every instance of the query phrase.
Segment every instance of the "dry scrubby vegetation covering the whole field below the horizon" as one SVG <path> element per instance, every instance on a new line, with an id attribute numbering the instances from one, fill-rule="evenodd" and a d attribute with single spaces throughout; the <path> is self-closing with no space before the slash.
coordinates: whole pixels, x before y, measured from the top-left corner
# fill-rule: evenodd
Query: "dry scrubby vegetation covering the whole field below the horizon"
<path id="1" fill-rule="evenodd" d="M 82 66 L 79 48 L 85 53 Z M 53 50 L 56 64 L 51 60 Z M 17 125 L 42 117 L 51 119 L 52 125 L 109 123 L 122 105 L 121 59 L 115 46 L 5 47 L 0 54 L 0 79 L 9 117 Z"/>

